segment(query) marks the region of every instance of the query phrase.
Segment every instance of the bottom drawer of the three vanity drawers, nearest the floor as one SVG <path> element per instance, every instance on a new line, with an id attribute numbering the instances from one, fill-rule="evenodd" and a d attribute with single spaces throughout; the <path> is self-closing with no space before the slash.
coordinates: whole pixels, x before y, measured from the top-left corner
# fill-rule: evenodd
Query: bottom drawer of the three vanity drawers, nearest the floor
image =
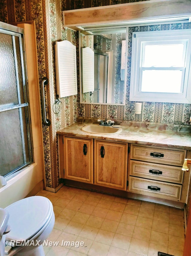
<path id="1" fill-rule="evenodd" d="M 182 185 L 129 177 L 129 191 L 179 201 Z"/>

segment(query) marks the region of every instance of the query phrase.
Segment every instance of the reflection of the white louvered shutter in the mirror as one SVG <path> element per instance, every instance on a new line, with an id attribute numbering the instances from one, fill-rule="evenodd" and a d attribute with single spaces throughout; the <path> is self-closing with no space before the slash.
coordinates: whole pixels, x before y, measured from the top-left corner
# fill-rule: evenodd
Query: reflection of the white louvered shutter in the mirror
<path id="1" fill-rule="evenodd" d="M 94 51 L 82 48 L 82 92 L 94 91 Z"/>

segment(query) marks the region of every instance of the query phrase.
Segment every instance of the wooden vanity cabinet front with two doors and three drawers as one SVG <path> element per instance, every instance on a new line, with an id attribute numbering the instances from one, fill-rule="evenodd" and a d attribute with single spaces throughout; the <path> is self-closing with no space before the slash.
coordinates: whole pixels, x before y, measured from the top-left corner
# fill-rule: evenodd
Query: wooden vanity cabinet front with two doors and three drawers
<path id="1" fill-rule="evenodd" d="M 65 135 L 58 146 L 61 178 L 187 203 L 190 172 L 181 169 L 190 150 Z"/>

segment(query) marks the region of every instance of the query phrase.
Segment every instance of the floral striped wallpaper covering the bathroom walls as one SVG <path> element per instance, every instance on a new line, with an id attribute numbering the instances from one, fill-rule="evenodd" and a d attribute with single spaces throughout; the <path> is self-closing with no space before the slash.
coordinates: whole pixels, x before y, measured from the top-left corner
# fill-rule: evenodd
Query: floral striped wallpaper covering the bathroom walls
<path id="1" fill-rule="evenodd" d="M 47 188 L 55 189 L 60 183 L 58 137 L 56 131 L 76 122 L 77 116 L 160 123 L 182 121 L 188 124 L 189 122 L 191 104 L 144 102 L 141 115 L 135 115 L 135 102 L 129 101 L 129 86 L 132 32 L 141 30 L 187 29 L 191 28 L 190 23 L 131 27 L 128 35 L 129 55 L 127 63 L 127 93 L 125 106 L 80 104 L 78 32 L 64 28 L 62 11 L 137 1 L 138 0 L 0 0 L 0 21 L 12 23 L 35 20 L 36 22 L 39 80 L 44 76 L 47 76 L 49 79 L 49 83 L 45 90 L 45 97 L 47 118 L 50 119 L 51 126 L 46 127 L 42 125 Z M 55 114 L 53 105 L 57 93 L 54 45 L 56 41 L 60 40 L 69 40 L 76 46 L 78 94 L 61 98 L 62 111 L 60 114 Z"/>

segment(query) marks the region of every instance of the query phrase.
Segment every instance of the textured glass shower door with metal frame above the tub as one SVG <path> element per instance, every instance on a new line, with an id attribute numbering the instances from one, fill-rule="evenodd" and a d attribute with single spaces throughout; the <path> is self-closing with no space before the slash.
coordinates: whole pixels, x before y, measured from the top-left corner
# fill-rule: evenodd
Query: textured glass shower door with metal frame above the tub
<path id="1" fill-rule="evenodd" d="M 0 174 L 8 179 L 32 162 L 30 112 L 23 30 L 0 25 Z"/>

